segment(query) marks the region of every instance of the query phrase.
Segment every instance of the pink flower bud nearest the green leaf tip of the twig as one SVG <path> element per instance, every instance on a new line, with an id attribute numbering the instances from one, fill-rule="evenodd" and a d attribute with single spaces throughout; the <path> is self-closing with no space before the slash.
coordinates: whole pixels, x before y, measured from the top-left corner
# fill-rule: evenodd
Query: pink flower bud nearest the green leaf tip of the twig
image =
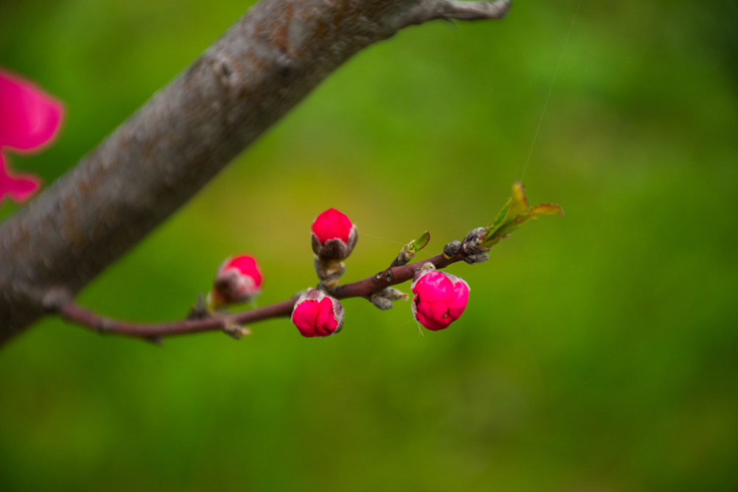
<path id="1" fill-rule="evenodd" d="M 413 316 L 429 330 L 443 330 L 458 319 L 469 302 L 469 284 L 461 277 L 427 268 L 415 274 L 410 289 Z"/>

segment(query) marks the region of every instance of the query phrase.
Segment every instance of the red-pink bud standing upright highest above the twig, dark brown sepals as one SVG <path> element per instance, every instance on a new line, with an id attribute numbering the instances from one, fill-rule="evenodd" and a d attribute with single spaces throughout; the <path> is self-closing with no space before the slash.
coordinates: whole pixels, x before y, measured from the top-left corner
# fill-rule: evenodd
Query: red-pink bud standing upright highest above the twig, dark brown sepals
<path id="1" fill-rule="evenodd" d="M 348 257 L 359 238 L 351 219 L 337 209 L 328 209 L 318 215 L 311 231 L 313 252 L 323 262 Z"/>

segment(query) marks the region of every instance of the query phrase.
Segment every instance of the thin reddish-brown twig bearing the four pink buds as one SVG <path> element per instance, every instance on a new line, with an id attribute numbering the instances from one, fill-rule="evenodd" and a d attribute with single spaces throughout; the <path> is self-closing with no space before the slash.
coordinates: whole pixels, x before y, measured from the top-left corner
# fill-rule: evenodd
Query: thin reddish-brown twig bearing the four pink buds
<path id="1" fill-rule="evenodd" d="M 463 258 L 462 254 L 457 254 L 454 257 L 446 257 L 441 253 L 427 260 L 411 263 L 410 265 L 387 268 L 387 270 L 367 277 L 364 280 L 339 285 L 334 291 L 331 291 L 331 296 L 337 299 L 345 299 L 347 297 L 365 297 L 368 299 L 372 294 L 376 294 L 390 285 L 397 285 L 412 279 L 415 272 L 425 263 L 432 263 L 436 268 L 440 269 L 449 266 L 451 263 L 463 260 Z M 47 296 L 46 304 L 50 311 L 57 312 L 64 319 L 86 328 L 92 328 L 92 330 L 97 332 L 132 336 L 159 342 L 165 336 L 227 330 L 232 325 L 246 325 L 264 319 L 290 316 L 296 300 L 297 296 L 263 308 L 252 309 L 251 311 L 204 319 L 183 319 L 181 321 L 167 323 L 133 323 L 105 318 L 76 305 L 72 298 L 63 292 L 52 292 Z"/>

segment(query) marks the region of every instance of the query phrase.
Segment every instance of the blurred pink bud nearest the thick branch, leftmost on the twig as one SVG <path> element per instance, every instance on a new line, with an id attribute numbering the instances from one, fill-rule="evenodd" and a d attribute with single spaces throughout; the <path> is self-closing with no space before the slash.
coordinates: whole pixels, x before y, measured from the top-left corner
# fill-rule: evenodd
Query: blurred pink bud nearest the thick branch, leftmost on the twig
<path id="1" fill-rule="evenodd" d="M 208 296 L 213 308 L 222 308 L 235 302 L 248 302 L 256 297 L 261 287 L 261 270 L 254 257 L 238 254 L 218 267 L 213 290 Z"/>

